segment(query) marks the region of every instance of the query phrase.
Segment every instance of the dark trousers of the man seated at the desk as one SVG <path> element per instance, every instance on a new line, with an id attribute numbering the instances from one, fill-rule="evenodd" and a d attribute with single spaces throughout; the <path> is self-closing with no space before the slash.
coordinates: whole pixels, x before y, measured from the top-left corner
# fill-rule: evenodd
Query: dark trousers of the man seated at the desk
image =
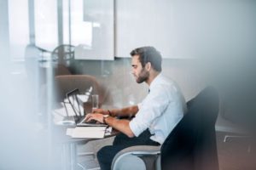
<path id="1" fill-rule="evenodd" d="M 110 170 L 113 157 L 120 151 L 127 147 L 134 145 L 160 145 L 157 142 L 149 139 L 151 134 L 145 130 L 138 137 L 129 138 L 124 133 L 119 133 L 113 140 L 113 145 L 102 147 L 97 152 L 97 159 L 102 170 Z"/>

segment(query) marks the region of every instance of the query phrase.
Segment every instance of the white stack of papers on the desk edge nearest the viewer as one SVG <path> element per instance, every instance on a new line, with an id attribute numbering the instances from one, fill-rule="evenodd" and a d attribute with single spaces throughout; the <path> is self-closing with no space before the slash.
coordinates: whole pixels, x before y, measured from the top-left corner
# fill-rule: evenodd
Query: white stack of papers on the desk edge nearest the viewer
<path id="1" fill-rule="evenodd" d="M 104 138 L 106 127 L 75 127 L 67 128 L 66 134 L 72 138 Z"/>

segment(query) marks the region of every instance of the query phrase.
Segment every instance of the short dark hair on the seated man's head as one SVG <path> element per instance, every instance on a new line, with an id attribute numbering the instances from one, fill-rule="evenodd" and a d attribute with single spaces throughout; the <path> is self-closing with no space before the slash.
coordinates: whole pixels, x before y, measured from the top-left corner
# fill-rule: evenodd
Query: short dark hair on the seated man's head
<path id="1" fill-rule="evenodd" d="M 162 56 L 159 51 L 154 47 L 142 47 L 136 48 L 131 51 L 131 57 L 134 55 L 139 56 L 139 60 L 142 63 L 143 67 L 150 62 L 155 71 L 162 71 Z"/>

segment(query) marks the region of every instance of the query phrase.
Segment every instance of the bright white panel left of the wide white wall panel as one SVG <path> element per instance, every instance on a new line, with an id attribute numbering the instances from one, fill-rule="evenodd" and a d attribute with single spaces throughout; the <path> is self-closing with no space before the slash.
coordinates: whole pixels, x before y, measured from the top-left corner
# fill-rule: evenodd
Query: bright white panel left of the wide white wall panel
<path id="1" fill-rule="evenodd" d="M 76 59 L 113 59 L 113 0 L 71 1 Z"/>

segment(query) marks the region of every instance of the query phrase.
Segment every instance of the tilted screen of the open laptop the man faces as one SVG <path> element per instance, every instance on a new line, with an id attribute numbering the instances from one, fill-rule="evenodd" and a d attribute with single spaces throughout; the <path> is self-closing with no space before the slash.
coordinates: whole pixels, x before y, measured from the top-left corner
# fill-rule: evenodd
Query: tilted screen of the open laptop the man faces
<path id="1" fill-rule="evenodd" d="M 76 116 L 84 116 L 83 103 L 82 102 L 79 103 L 78 94 L 79 94 L 79 88 L 75 88 L 71 92 L 68 92 L 66 95 L 67 95 L 68 102 L 72 106 Z"/>

